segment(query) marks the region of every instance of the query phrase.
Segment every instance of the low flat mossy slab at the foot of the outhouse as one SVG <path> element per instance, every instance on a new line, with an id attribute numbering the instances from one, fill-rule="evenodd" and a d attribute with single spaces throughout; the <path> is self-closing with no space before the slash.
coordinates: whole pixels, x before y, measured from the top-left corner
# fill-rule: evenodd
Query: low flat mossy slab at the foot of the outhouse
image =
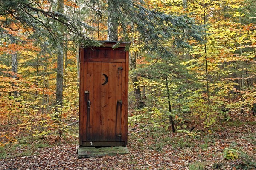
<path id="1" fill-rule="evenodd" d="M 79 146 L 78 150 L 78 158 L 89 158 L 89 157 L 97 157 L 97 156 L 116 156 L 117 154 L 124 155 L 129 153 L 127 147 L 123 146 L 112 146 L 112 147 L 85 147 Z"/>

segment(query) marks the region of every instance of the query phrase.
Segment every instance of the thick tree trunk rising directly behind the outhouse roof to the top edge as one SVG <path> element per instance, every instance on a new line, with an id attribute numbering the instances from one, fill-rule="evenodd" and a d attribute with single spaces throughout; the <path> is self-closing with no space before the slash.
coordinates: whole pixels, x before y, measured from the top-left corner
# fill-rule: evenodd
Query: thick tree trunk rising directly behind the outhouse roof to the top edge
<path id="1" fill-rule="evenodd" d="M 108 41 L 118 41 L 117 28 L 118 16 L 115 0 L 108 0 Z"/>

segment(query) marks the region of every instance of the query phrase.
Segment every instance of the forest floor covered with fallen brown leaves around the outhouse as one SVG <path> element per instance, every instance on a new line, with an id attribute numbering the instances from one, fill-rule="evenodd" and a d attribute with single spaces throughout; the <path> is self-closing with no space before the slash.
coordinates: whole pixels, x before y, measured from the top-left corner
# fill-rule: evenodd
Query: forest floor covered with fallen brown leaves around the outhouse
<path id="1" fill-rule="evenodd" d="M 77 157 L 77 137 L 24 137 L 16 144 L 0 147 L 0 170 L 253 170 L 255 120 L 226 122 L 225 130 L 216 126 L 212 134 L 201 124 L 196 124 L 192 133 L 129 125 L 129 154 L 83 159 Z M 227 160 L 224 153 L 231 153 L 230 157 L 237 153 L 238 158 Z"/>

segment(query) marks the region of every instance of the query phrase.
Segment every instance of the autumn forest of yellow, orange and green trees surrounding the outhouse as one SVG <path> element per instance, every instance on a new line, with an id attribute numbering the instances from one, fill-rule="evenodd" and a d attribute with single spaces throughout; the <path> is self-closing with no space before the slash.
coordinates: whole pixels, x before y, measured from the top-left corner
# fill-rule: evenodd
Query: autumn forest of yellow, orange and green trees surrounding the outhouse
<path id="1" fill-rule="evenodd" d="M 130 125 L 188 132 L 182 125 L 193 119 L 213 133 L 221 120 L 256 114 L 253 0 L 0 4 L 0 145 L 70 134 L 79 115 L 79 45 L 99 45 L 110 32 L 131 42 Z"/>

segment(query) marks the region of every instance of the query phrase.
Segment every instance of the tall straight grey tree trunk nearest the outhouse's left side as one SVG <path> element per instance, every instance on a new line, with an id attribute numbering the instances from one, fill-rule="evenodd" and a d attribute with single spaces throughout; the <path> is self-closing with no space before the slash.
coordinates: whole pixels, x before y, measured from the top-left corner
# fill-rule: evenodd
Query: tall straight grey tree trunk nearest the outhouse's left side
<path id="1" fill-rule="evenodd" d="M 57 11 L 64 13 L 64 2 L 63 0 L 58 0 L 57 2 Z M 63 57 L 64 57 L 64 25 L 63 23 L 58 23 L 58 31 L 59 31 L 59 47 L 57 54 L 57 82 L 56 82 L 56 104 L 62 107 L 63 101 Z M 58 110 L 59 111 L 59 110 Z M 58 116 L 58 115 L 57 115 Z"/>

